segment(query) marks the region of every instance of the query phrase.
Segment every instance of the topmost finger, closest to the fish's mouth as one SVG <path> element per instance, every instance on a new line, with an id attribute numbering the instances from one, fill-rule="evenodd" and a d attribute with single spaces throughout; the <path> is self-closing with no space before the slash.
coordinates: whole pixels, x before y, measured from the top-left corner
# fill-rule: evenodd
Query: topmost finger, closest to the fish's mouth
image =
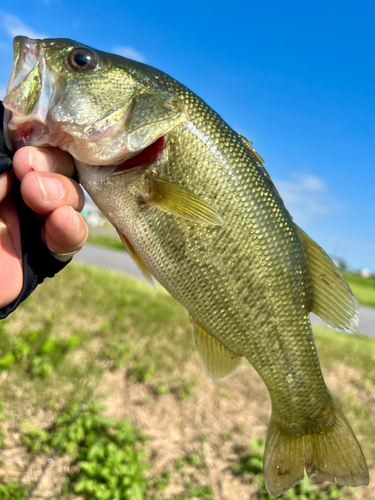
<path id="1" fill-rule="evenodd" d="M 13 157 L 13 169 L 22 181 L 29 172 L 55 172 L 72 177 L 75 172 L 73 158 L 59 148 L 35 148 L 27 146 L 19 149 Z"/>

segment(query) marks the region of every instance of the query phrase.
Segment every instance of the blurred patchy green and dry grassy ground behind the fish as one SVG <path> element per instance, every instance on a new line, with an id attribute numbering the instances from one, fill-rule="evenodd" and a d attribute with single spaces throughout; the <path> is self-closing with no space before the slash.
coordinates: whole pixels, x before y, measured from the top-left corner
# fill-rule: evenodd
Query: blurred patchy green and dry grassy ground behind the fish
<path id="1" fill-rule="evenodd" d="M 328 386 L 375 468 L 375 341 L 319 326 L 314 334 Z M 82 403 L 95 411 L 70 424 Z M 186 310 L 163 289 L 115 272 L 70 265 L 0 323 L 2 498 L 26 498 L 25 485 L 30 491 L 61 436 L 55 468 L 38 486 L 43 497 L 90 498 L 95 481 L 104 481 L 102 497 L 116 498 L 120 473 L 113 477 L 105 460 L 122 457 L 119 441 L 108 441 L 119 428 L 133 440 L 129 456 L 139 465 L 120 471 L 124 483 L 138 478 L 138 492 L 129 495 L 212 500 L 227 484 L 238 498 L 266 498 L 260 476 L 241 467 L 259 453 L 248 440 L 265 437 L 269 415 L 254 370 L 244 363 L 213 384 L 195 353 Z M 135 445 L 134 436 L 144 434 L 147 441 L 139 437 Z M 106 442 L 107 455 L 89 453 L 96 440 Z"/>

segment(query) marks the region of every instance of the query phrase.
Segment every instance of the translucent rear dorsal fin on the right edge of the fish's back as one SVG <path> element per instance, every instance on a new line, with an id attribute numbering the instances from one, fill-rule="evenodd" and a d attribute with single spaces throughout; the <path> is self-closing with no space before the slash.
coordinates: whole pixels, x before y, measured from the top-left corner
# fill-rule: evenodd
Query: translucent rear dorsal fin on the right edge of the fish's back
<path id="1" fill-rule="evenodd" d="M 346 333 L 358 324 L 358 303 L 349 285 L 326 252 L 297 227 L 305 249 L 312 285 L 311 312 Z"/>

